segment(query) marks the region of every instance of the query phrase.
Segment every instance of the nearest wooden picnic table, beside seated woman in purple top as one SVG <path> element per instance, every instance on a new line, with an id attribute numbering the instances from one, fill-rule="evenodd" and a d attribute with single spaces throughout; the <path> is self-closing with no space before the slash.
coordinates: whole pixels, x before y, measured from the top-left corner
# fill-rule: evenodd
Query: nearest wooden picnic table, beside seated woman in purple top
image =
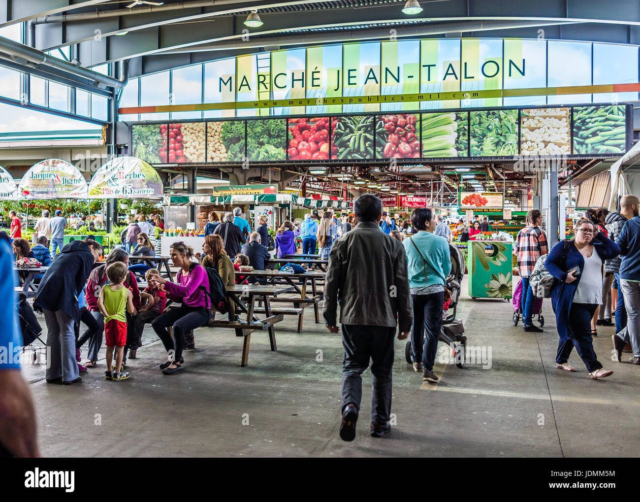
<path id="1" fill-rule="evenodd" d="M 271 303 L 269 302 L 269 298 L 282 293 L 288 293 L 289 291 L 292 291 L 292 289 L 292 286 L 262 286 L 260 284 L 235 284 L 232 287 L 227 287 L 227 295 L 234 301 L 242 312 L 246 313 L 246 321 L 212 321 L 209 323 L 209 326 L 234 328 L 236 330 L 236 336 L 244 337 L 240 366 L 244 367 L 247 365 L 251 334 L 255 330 L 268 329 L 271 350 L 278 350 L 273 325 L 282 321 L 284 319 L 284 315 L 273 314 L 273 312 L 271 312 Z M 248 300 L 245 303 L 243 300 L 246 298 L 248 298 Z M 263 310 L 265 317 L 262 319 L 258 318 L 255 314 L 255 302 L 259 298 L 264 302 Z"/>

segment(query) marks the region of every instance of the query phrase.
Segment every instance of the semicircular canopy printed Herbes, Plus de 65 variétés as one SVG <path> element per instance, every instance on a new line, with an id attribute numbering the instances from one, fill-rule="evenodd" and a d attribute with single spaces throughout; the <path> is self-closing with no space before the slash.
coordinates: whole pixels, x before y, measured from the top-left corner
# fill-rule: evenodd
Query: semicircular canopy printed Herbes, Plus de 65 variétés
<path id="1" fill-rule="evenodd" d="M 90 198 L 161 198 L 157 171 L 136 157 L 116 157 L 100 167 L 89 183 Z"/>

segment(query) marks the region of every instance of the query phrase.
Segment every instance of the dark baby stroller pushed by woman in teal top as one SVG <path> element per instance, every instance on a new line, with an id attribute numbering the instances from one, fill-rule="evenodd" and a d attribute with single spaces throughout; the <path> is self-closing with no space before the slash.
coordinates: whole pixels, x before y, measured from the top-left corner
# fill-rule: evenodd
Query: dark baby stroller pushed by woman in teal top
<path id="1" fill-rule="evenodd" d="M 448 344 L 454 355 L 456 366 L 462 368 L 465 363 L 465 346 L 467 345 L 467 337 L 464 336 L 465 327 L 460 320 L 456 319 L 456 309 L 458 308 L 458 300 L 460 300 L 460 283 L 465 275 L 465 259 L 460 249 L 449 244 L 449 252 L 451 254 L 451 273 L 447 277 L 447 289 L 451 291 L 451 302 L 449 303 L 449 312 L 442 320 L 442 328 L 440 328 L 440 336 L 438 341 Z M 411 364 L 411 340 L 408 340 L 404 348 L 404 358 L 406 362 Z"/>

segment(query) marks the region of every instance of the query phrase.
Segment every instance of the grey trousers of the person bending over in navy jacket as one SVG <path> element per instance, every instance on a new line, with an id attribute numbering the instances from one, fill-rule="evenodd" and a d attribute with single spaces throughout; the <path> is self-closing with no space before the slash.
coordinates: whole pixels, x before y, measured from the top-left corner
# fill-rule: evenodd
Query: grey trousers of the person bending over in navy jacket
<path id="1" fill-rule="evenodd" d="M 62 377 L 63 382 L 76 380 L 76 333 L 74 320 L 63 311 L 44 311 L 47 323 L 47 380 Z"/>

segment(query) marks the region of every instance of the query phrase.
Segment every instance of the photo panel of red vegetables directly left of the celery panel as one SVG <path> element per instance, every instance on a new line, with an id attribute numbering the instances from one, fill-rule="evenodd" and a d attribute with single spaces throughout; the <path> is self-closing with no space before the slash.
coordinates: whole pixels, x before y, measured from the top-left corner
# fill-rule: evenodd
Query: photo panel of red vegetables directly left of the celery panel
<path id="1" fill-rule="evenodd" d="M 419 117 L 419 113 L 376 116 L 376 158 L 419 158 Z"/>

